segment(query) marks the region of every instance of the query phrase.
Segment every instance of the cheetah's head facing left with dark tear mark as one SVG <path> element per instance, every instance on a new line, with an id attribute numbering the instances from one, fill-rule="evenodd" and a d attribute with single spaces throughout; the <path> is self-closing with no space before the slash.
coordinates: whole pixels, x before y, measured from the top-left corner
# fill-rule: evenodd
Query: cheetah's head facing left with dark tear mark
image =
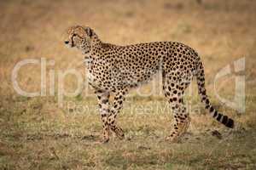
<path id="1" fill-rule="evenodd" d="M 67 30 L 67 39 L 64 43 L 69 48 L 79 48 L 83 54 L 90 53 L 92 38 L 96 36 L 94 31 L 87 26 L 72 26 Z"/>

